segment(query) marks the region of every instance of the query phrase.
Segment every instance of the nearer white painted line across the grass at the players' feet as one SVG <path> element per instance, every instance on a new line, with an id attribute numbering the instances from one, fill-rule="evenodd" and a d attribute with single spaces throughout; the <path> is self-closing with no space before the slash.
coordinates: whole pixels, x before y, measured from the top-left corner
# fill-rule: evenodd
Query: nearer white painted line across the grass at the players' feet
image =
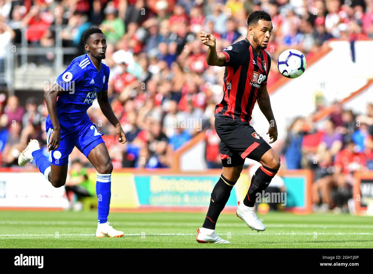
<path id="1" fill-rule="evenodd" d="M 228 235 L 228 233 L 217 233 L 218 235 Z M 373 233 L 319 233 L 319 232 L 308 232 L 308 233 L 298 233 L 298 232 L 286 232 L 286 233 L 230 233 L 231 235 L 373 235 Z M 32 236 L 32 237 L 43 237 L 43 236 L 95 236 L 95 234 L 0 234 L 0 237 L 21 237 L 21 236 Z M 150 234 L 124 234 L 123 236 L 195 236 L 195 233 L 150 233 Z"/>

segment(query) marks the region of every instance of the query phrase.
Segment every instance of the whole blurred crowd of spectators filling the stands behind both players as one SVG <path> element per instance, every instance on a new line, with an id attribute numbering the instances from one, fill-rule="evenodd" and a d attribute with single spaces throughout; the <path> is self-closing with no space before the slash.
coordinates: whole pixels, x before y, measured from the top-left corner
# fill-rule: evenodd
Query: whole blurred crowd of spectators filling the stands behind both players
<path id="1" fill-rule="evenodd" d="M 221 167 L 213 110 L 222 97 L 224 68 L 207 65 L 207 47 L 198 33 L 212 33 L 220 51 L 245 37 L 247 16 L 254 10 L 272 17 L 267 52 L 273 63 L 288 48 L 309 59 L 332 38 L 373 38 L 373 0 L 0 0 L 0 37 L 5 44 L 18 45 L 24 33 L 30 47 L 50 47 L 59 38 L 56 27 L 61 27 L 63 46 L 78 48 L 80 55 L 83 32 L 101 28 L 108 44 L 110 102 L 126 132 L 126 144 L 118 145 L 114 127 L 97 102 L 88 115 L 104 133 L 114 167 L 170 167 L 170 154 L 200 129 L 175 126 L 175 121 L 179 125 L 189 119 L 207 129 L 206 162 L 214 168 Z M 0 71 L 6 54 L 0 50 Z M 75 57 L 64 56 L 65 64 Z M 42 62 L 53 58 L 49 54 Z M 279 78 L 272 66 L 268 87 Z M 1 166 L 15 165 L 30 138 L 38 139 L 46 152 L 45 102 L 30 97 L 21 105 L 18 97 L 0 94 L 0 115 Z M 361 162 L 354 156 L 372 149 L 372 105 L 366 116 L 359 116 L 361 125 L 355 125 L 354 116 L 336 104 L 322 130 L 310 117 L 295 119 L 289 128 L 283 158 L 288 169 L 314 169 L 315 204 L 330 207 L 332 186 L 354 166 L 348 163 L 372 166 L 370 154 L 359 156 Z M 70 161 L 75 159 L 89 166 L 77 149 Z"/>

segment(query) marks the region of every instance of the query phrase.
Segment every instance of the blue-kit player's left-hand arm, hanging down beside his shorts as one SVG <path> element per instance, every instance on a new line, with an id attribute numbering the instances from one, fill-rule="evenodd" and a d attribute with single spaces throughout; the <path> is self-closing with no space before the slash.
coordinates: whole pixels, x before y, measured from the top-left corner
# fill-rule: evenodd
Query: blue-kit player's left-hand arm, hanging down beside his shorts
<path id="1" fill-rule="evenodd" d="M 47 104 L 50 121 L 53 125 L 53 132 L 50 136 L 50 142 L 47 144 L 48 151 L 56 150 L 60 146 L 61 126 L 57 116 L 57 97 L 64 91 L 59 85 L 54 84 L 50 90 L 44 94 L 44 100 Z"/>

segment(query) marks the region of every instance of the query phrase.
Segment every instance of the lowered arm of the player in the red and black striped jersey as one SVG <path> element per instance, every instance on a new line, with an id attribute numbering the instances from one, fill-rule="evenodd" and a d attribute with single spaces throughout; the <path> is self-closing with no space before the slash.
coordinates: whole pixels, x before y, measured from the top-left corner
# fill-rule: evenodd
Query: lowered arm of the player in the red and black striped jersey
<path id="1" fill-rule="evenodd" d="M 260 108 L 260 111 L 266 116 L 269 122 L 269 129 L 267 134 L 269 134 L 269 138 L 272 139 L 269 143 L 272 144 L 277 140 L 277 125 L 275 116 L 273 116 L 271 102 L 269 100 L 269 94 L 267 91 L 267 85 L 261 86 L 258 92 L 257 102 Z"/>

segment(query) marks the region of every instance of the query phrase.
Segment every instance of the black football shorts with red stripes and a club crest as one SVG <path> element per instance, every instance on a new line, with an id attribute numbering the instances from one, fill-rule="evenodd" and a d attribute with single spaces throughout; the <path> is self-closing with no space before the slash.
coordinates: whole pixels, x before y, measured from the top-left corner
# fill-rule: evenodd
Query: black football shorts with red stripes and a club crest
<path id="1" fill-rule="evenodd" d="M 241 166 L 245 158 L 259 161 L 271 149 L 248 122 L 215 119 L 215 129 L 223 167 Z"/>

